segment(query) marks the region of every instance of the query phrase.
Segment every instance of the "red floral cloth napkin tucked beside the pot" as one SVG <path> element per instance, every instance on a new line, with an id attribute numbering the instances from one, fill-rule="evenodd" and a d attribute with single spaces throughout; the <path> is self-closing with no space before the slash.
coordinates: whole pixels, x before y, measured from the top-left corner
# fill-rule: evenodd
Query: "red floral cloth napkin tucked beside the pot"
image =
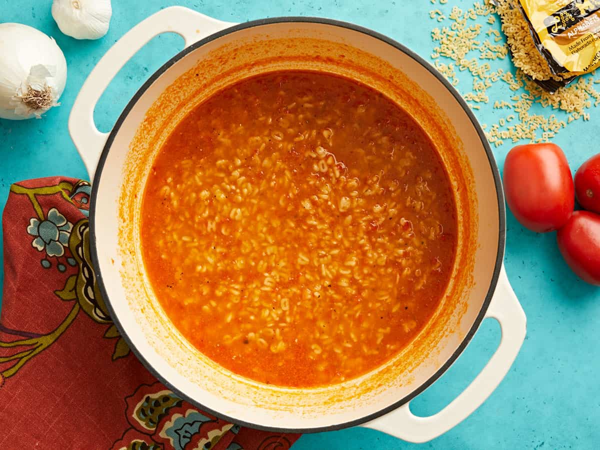
<path id="1" fill-rule="evenodd" d="M 89 257 L 88 182 L 13 184 L 4 209 L 0 448 L 286 450 L 158 382 L 113 325 Z"/>

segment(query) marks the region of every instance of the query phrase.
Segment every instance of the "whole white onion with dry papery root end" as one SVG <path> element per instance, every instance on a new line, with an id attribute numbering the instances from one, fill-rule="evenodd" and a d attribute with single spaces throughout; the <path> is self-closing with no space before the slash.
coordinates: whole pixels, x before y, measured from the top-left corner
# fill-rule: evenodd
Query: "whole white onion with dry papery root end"
<path id="1" fill-rule="evenodd" d="M 56 42 L 31 26 L 0 23 L 0 118 L 40 118 L 61 96 L 67 61 Z"/>

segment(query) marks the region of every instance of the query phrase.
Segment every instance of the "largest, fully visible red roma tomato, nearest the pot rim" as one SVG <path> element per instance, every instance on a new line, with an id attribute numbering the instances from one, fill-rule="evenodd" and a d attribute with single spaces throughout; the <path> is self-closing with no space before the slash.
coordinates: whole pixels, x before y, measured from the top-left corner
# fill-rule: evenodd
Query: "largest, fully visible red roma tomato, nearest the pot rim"
<path id="1" fill-rule="evenodd" d="M 545 233 L 571 217 L 575 187 L 559 146 L 517 145 L 506 155 L 503 181 L 506 203 L 524 227 Z"/>

